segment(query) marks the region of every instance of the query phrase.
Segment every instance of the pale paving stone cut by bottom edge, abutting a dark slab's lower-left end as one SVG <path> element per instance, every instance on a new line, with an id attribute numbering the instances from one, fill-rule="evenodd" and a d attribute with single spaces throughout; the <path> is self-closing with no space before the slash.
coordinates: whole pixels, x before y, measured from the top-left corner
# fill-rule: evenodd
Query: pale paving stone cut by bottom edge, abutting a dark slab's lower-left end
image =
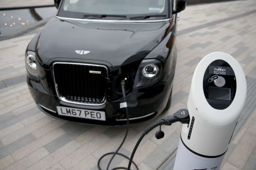
<path id="1" fill-rule="evenodd" d="M 41 147 L 38 150 L 34 151 L 33 153 L 29 154 L 28 156 L 22 158 L 21 160 L 15 162 L 11 166 L 7 167 L 5 170 L 12 170 L 12 169 L 19 169 L 23 170 L 28 168 L 30 165 L 33 165 L 40 159 L 47 156 L 49 152 L 44 148 Z"/>

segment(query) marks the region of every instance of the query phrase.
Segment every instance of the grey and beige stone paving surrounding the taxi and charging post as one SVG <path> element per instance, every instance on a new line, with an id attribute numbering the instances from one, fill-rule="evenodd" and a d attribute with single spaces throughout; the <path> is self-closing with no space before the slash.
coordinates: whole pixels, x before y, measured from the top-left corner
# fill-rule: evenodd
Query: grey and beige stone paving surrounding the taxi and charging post
<path id="1" fill-rule="evenodd" d="M 187 6 L 178 22 L 172 106 L 161 117 L 187 108 L 195 67 L 210 52 L 230 53 L 243 67 L 248 85 L 256 79 L 256 13 L 250 13 L 255 9 L 254 0 Z M 24 80 L 24 53 L 33 36 L 0 41 L 0 169 L 97 169 L 99 157 L 116 149 L 125 128 L 82 125 L 42 113 Z M 250 99 L 255 106 L 255 97 Z M 130 127 L 121 152 L 129 156 L 145 127 L 158 119 Z M 256 169 L 255 121 L 256 110 L 241 118 L 241 129 L 230 144 L 223 170 Z M 179 123 L 163 127 L 161 140 L 150 132 L 134 157 L 139 168 L 164 169 L 165 160 L 175 158 L 180 130 Z M 101 166 L 106 165 L 107 159 L 103 159 Z M 111 167 L 120 165 L 127 166 L 127 160 L 117 156 Z"/>

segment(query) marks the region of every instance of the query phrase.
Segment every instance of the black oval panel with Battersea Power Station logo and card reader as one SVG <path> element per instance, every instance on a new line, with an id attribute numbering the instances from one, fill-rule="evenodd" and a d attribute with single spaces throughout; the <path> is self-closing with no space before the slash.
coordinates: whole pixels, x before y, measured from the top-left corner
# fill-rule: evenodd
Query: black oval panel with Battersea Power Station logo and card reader
<path id="1" fill-rule="evenodd" d="M 226 109 L 236 95 L 236 75 L 224 60 L 214 60 L 206 68 L 203 78 L 206 101 L 214 109 Z"/>

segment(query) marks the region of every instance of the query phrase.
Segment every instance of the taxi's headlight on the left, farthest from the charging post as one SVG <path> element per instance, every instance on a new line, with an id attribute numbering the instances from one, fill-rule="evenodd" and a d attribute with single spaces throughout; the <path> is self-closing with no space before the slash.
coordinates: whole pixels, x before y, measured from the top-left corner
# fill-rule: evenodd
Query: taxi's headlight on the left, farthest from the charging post
<path id="1" fill-rule="evenodd" d="M 37 67 L 36 67 L 36 54 L 33 51 L 26 52 L 26 68 L 30 75 L 38 78 Z"/>

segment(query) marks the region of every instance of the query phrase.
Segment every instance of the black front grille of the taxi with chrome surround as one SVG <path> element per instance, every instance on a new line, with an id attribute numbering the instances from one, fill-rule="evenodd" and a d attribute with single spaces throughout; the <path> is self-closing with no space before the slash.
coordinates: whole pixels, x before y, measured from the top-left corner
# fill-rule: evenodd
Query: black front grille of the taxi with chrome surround
<path id="1" fill-rule="evenodd" d="M 53 75 L 57 95 L 62 101 L 84 105 L 101 105 L 106 102 L 106 66 L 55 62 Z"/>

